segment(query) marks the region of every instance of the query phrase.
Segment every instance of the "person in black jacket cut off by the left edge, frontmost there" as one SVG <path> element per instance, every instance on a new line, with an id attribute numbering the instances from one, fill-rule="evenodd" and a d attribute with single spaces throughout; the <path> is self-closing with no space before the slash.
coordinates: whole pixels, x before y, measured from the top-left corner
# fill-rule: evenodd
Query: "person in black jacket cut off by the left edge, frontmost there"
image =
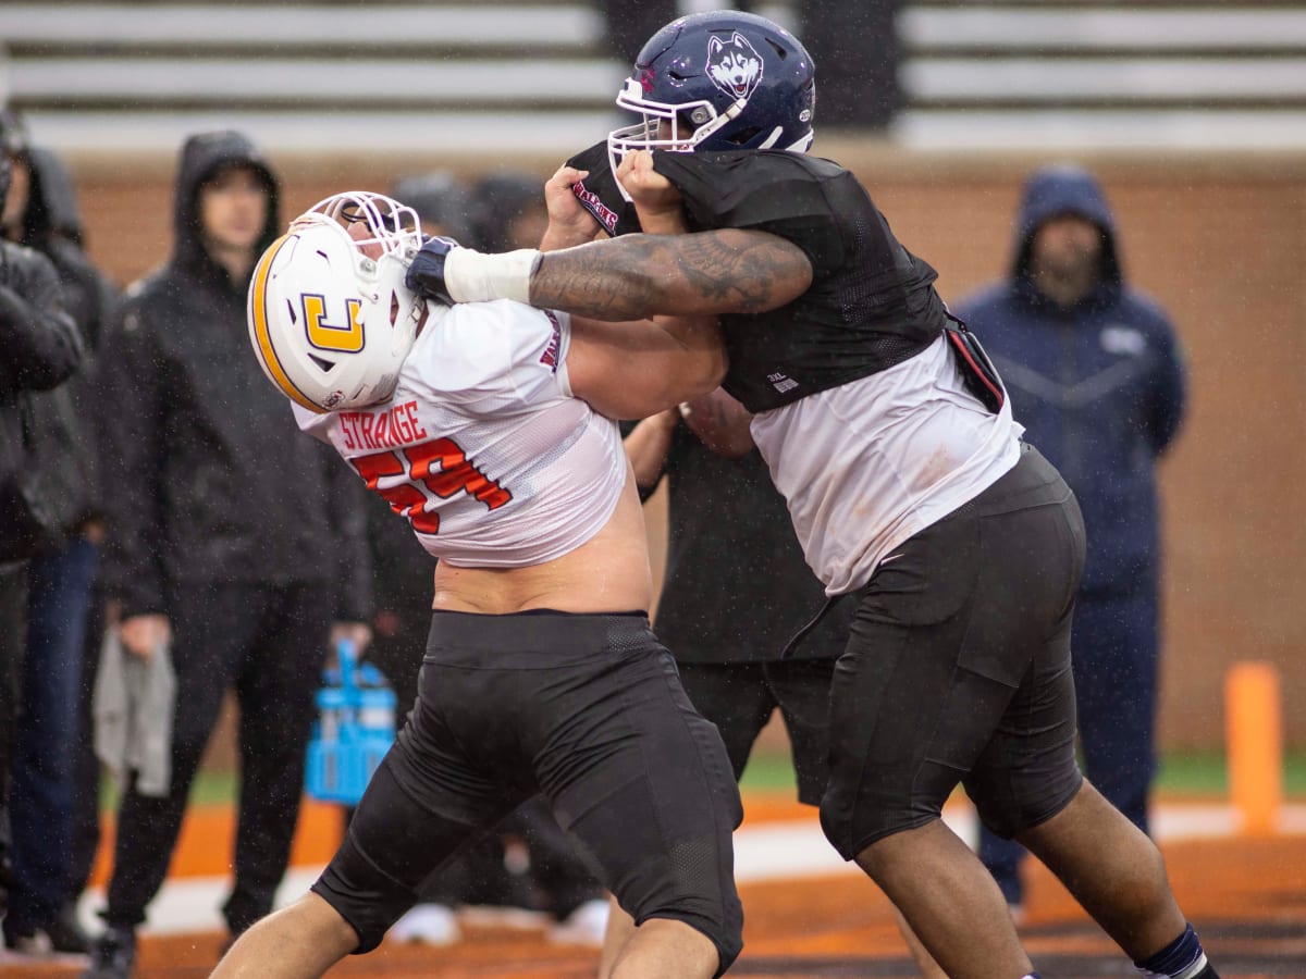
<path id="1" fill-rule="evenodd" d="M 0 205 L 13 163 L 0 153 Z M 40 444 L 31 392 L 80 367 L 85 345 L 65 312 L 59 274 L 39 252 L 0 236 L 0 919 L 9 924 L 9 786 L 27 640 L 27 561 L 56 538 L 63 513 L 46 493 L 63 459 Z"/>

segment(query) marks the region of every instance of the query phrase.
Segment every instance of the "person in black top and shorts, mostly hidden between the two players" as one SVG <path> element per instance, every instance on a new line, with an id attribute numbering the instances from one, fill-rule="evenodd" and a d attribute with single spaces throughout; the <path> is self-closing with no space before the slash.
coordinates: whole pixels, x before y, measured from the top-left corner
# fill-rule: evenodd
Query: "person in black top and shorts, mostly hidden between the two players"
<path id="1" fill-rule="evenodd" d="M 640 496 L 667 486 L 667 552 L 657 628 L 690 701 L 721 731 L 738 781 L 778 714 L 798 800 L 820 805 L 829 777 L 829 684 L 850 607 L 823 615 L 785 497 L 748 435 L 751 415 L 720 388 L 623 426 Z M 614 911 L 614 915 L 616 912 Z M 633 927 L 618 915 L 611 946 Z"/>

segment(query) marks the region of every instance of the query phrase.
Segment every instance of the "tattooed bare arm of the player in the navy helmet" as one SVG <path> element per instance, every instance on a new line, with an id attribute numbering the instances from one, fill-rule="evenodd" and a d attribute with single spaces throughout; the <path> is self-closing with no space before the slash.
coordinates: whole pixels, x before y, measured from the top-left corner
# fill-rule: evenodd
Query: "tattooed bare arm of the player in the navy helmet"
<path id="1" fill-rule="evenodd" d="M 760 231 L 626 235 L 545 255 L 530 302 L 596 320 L 754 313 L 790 302 L 810 279 L 797 245 Z"/>

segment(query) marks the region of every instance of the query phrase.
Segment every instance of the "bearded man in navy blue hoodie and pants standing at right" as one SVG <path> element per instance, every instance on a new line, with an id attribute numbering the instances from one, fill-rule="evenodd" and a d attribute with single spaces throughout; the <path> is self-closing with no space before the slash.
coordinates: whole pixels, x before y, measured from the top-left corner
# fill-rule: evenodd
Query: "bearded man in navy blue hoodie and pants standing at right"
<path id="1" fill-rule="evenodd" d="M 1183 420 L 1179 342 L 1165 311 L 1126 285 L 1106 196 L 1074 164 L 1029 176 L 1010 278 L 953 312 L 983 339 L 1025 439 L 1079 497 L 1088 553 L 1071 644 L 1084 768 L 1147 831 L 1160 651 L 1156 463 Z M 981 859 L 1017 915 L 1024 854 L 983 830 Z"/>

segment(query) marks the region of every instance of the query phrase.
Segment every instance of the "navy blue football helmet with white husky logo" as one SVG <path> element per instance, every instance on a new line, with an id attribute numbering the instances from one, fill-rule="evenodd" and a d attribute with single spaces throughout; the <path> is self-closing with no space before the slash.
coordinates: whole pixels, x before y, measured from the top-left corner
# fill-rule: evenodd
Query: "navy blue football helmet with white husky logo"
<path id="1" fill-rule="evenodd" d="M 613 168 L 631 150 L 806 151 L 814 76 L 807 48 L 765 17 L 716 10 L 671 21 L 643 47 L 616 97 L 644 121 L 609 134 Z"/>

